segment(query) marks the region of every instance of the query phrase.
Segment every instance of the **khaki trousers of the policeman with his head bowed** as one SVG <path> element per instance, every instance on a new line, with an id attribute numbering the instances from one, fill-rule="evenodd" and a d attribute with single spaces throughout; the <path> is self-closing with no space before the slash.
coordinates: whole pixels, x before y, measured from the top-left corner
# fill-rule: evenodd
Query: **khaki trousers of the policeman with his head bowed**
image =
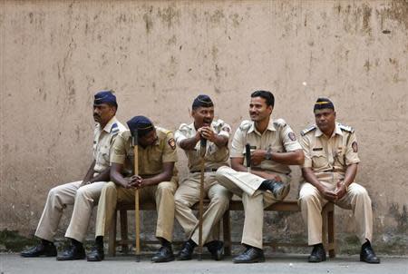
<path id="1" fill-rule="evenodd" d="M 154 186 L 144 187 L 139 191 L 140 202 L 156 202 L 157 224 L 156 237 L 171 241 L 174 224 L 174 192 L 177 190 L 177 178 L 161 181 Z M 110 229 L 116 203 L 134 204 L 135 189 L 125 189 L 110 181 L 102 189 L 96 215 L 95 237 L 104 236 Z"/>

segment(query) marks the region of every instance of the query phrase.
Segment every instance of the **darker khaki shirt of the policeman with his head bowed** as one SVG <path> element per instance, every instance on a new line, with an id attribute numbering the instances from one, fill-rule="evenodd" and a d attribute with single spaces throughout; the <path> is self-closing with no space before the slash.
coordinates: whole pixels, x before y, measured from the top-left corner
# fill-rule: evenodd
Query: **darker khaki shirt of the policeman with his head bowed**
<path id="1" fill-rule="evenodd" d="M 151 177 L 163 171 L 163 162 L 176 162 L 177 152 L 173 134 L 170 131 L 156 127 L 157 141 L 143 148 L 138 146 L 139 175 Z M 123 175 L 134 174 L 134 152 L 131 146 L 131 132 L 121 132 L 113 143 L 111 163 L 123 164 Z M 177 171 L 174 168 L 173 176 Z"/>

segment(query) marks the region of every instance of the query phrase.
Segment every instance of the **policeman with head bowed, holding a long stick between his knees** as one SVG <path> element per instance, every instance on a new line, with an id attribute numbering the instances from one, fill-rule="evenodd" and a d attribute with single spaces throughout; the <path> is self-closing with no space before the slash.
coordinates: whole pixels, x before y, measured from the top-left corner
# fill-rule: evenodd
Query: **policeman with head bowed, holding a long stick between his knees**
<path id="1" fill-rule="evenodd" d="M 156 237 L 160 250 L 152 257 L 154 262 L 174 259 L 171 239 L 174 223 L 174 192 L 177 189 L 176 142 L 172 132 L 155 127 L 144 116 L 135 116 L 127 122 L 129 130 L 119 134 L 113 143 L 111 155 L 111 182 L 102 189 L 96 217 L 95 246 L 89 261 L 104 258 L 103 236 L 109 230 L 118 203 L 134 203 L 135 188 L 140 199 L 155 201 L 157 209 Z M 139 169 L 134 176 L 134 152 L 131 132 L 138 132 Z M 132 176 L 133 175 L 133 176 Z"/>

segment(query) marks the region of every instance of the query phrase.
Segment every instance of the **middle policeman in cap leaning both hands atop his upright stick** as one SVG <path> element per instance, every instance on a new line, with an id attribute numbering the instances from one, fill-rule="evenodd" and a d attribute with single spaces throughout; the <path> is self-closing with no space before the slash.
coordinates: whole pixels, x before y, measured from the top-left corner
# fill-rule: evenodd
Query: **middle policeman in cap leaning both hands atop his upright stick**
<path id="1" fill-rule="evenodd" d="M 231 128 L 222 120 L 214 120 L 214 104 L 208 95 L 199 95 L 192 103 L 191 116 L 194 122 L 182 123 L 175 133 L 176 142 L 186 152 L 189 160 L 189 174 L 180 183 L 175 194 L 176 218 L 189 237 L 180 251 L 178 259 L 191 259 L 192 252 L 199 244 L 199 220 L 191 207 L 199 201 L 201 151 L 200 140 L 206 140 L 204 152 L 204 197 L 209 198 L 209 208 L 203 214 L 202 241 L 213 259 L 222 257 L 223 243 L 218 240 L 219 223 L 228 209 L 231 193 L 219 184 L 215 175 L 220 166 L 228 166 L 228 139 Z"/>

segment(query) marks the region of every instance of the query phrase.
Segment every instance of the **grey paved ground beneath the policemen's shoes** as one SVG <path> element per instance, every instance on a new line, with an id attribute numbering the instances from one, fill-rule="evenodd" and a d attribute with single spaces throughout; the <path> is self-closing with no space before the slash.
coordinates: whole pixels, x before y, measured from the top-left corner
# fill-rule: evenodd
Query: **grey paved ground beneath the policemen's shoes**
<path id="1" fill-rule="evenodd" d="M 358 257 L 339 256 L 336 259 L 311 264 L 306 262 L 306 255 L 287 255 L 267 258 L 267 262 L 248 265 L 236 265 L 231 258 L 212 261 L 203 258 L 198 261 L 172 261 L 169 263 L 151 263 L 150 256 L 141 257 L 136 262 L 134 257 L 120 256 L 107 258 L 102 262 L 76 260 L 61 262 L 54 258 L 23 259 L 17 254 L 0 255 L 0 273 L 370 273 L 370 274 L 408 274 L 408 258 L 382 257 L 380 265 L 369 265 L 358 261 Z"/>

